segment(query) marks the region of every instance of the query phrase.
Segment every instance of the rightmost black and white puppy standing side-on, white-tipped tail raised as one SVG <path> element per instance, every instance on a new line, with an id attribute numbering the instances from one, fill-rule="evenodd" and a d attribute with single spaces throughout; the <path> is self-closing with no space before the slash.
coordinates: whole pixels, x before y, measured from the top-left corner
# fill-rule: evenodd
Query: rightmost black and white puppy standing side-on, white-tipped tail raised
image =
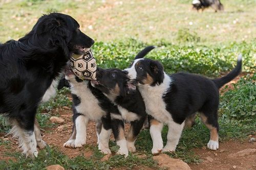
<path id="1" fill-rule="evenodd" d="M 144 99 L 146 112 L 159 122 L 151 122 L 150 133 L 153 140 L 153 154 L 175 151 L 184 125 L 195 123 L 196 112 L 210 130 L 207 147 L 219 148 L 218 106 L 219 88 L 239 75 L 242 55 L 238 57 L 236 68 L 226 76 L 210 80 L 203 76 L 176 73 L 166 75 L 159 61 L 136 57 L 130 68 L 125 69 L 130 79 L 138 81 Z M 163 148 L 161 130 L 168 126 L 167 143 Z"/>

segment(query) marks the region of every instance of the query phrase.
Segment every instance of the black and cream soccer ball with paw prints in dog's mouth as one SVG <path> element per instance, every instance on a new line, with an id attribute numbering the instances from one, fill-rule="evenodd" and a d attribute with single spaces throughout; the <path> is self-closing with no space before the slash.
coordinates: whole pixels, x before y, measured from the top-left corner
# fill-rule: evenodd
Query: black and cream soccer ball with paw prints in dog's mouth
<path id="1" fill-rule="evenodd" d="M 71 56 L 70 68 L 79 79 L 96 80 L 97 66 L 91 50 L 81 56 Z"/>

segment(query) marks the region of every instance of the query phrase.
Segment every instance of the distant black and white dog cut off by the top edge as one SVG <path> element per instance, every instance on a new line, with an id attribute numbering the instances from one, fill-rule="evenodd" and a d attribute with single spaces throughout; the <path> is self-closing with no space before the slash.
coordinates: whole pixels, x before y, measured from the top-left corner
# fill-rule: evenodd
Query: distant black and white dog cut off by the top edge
<path id="1" fill-rule="evenodd" d="M 202 9 L 202 11 L 205 8 L 211 7 L 215 10 L 215 12 L 217 11 L 223 11 L 224 7 L 221 4 L 220 0 L 194 0 L 192 2 L 193 5 L 193 9 L 196 9 L 197 11 L 199 11 L 200 9 Z"/>

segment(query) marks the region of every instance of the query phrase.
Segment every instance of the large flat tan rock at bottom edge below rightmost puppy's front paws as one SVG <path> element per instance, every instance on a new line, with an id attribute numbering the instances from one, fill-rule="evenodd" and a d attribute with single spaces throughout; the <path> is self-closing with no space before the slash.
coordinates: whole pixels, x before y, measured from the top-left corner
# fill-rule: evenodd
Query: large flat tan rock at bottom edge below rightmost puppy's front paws
<path id="1" fill-rule="evenodd" d="M 160 167 L 167 167 L 172 170 L 191 170 L 187 163 L 180 159 L 171 158 L 166 154 L 153 156 L 153 159 L 158 161 Z"/>

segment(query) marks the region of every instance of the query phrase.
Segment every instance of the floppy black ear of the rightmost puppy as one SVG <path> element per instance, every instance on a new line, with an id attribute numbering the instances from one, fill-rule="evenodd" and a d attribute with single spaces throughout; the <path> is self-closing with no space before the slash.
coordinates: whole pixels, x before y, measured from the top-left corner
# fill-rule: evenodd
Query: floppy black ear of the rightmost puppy
<path id="1" fill-rule="evenodd" d="M 159 61 L 152 60 L 150 62 L 150 70 L 153 75 L 153 86 L 161 84 L 164 78 L 163 65 Z"/>

